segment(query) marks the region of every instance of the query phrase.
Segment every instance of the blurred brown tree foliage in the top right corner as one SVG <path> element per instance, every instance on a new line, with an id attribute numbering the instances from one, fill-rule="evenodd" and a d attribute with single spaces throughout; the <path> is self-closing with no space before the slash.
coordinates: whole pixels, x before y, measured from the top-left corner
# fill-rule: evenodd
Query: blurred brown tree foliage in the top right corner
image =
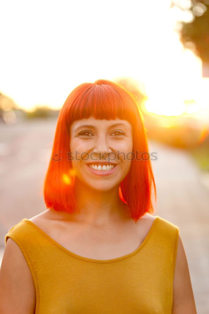
<path id="1" fill-rule="evenodd" d="M 209 0 L 174 0 L 171 4 L 171 8 L 173 7 L 191 15 L 189 22 L 180 21 L 182 44 L 194 51 L 202 62 L 209 63 Z"/>

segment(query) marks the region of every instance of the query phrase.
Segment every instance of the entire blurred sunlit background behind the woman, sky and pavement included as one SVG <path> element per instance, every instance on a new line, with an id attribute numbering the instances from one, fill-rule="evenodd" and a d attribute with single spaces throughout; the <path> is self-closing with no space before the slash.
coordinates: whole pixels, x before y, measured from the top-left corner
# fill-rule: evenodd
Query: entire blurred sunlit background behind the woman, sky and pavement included
<path id="1" fill-rule="evenodd" d="M 4 1 L 0 50 L 0 255 L 8 230 L 44 211 L 59 110 L 108 79 L 143 112 L 155 214 L 179 226 L 197 312 L 209 310 L 209 0 Z M 0 261 L 1 261 L 0 258 Z"/>

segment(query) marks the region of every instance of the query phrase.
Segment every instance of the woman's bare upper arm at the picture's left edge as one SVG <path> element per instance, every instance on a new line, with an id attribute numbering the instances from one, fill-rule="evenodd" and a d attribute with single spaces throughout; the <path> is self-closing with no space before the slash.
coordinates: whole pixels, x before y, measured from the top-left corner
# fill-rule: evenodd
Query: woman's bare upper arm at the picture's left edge
<path id="1" fill-rule="evenodd" d="M 0 270 L 0 313 L 34 314 L 35 287 L 19 246 L 8 238 Z"/>

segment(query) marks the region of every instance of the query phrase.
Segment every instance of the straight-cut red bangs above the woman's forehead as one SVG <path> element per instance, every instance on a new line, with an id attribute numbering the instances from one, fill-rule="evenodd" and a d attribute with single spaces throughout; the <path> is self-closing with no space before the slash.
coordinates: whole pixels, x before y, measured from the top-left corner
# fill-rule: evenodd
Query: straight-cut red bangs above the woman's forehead
<path id="1" fill-rule="evenodd" d="M 136 111 L 139 109 L 130 92 L 122 86 L 107 85 L 105 82 L 104 84 L 93 84 L 93 86 L 91 84 L 90 87 L 88 83 L 85 85 L 87 85 L 86 88 L 84 84 L 78 86 L 78 89 L 79 87 L 81 89 L 80 93 L 77 93 L 79 96 L 71 101 L 70 106 L 68 104 L 68 122 L 72 123 L 93 116 L 98 120 L 119 118 L 127 120 L 132 125 L 136 124 Z"/>

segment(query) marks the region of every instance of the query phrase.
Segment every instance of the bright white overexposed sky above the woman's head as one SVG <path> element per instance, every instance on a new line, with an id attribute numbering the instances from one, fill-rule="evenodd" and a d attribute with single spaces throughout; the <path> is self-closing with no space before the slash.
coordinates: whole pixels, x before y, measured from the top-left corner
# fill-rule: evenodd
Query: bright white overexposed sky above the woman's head
<path id="1" fill-rule="evenodd" d="M 81 83 L 132 78 L 151 112 L 204 109 L 208 79 L 174 30 L 181 18 L 169 0 L 4 1 L 0 92 L 27 111 L 60 109 Z"/>

